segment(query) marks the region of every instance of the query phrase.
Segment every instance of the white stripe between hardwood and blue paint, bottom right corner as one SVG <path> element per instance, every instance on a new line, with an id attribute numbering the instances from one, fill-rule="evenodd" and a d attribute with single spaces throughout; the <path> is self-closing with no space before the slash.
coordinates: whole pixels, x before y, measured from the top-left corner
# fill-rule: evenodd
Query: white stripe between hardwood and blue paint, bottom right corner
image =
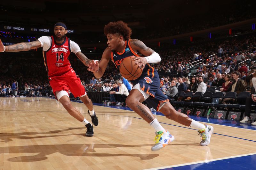
<path id="1" fill-rule="evenodd" d="M 229 156 L 229 157 L 224 157 L 224 158 L 217 158 L 217 159 L 209 159 L 209 160 L 203 160 L 203 161 L 197 161 L 197 162 L 190 162 L 190 163 L 185 163 L 185 164 L 162 166 L 162 167 L 150 168 L 150 169 L 144 169 L 144 170 L 159 170 L 159 169 L 164 169 L 164 168 L 173 168 L 173 167 L 178 167 L 178 166 L 200 164 L 200 163 L 212 162 L 212 161 L 223 160 L 223 159 L 231 159 L 231 158 L 237 158 L 237 157 L 243 157 L 243 156 L 250 156 L 250 155 L 255 155 L 255 154 L 256 154 L 256 152 L 247 153 L 247 154 L 243 154 L 243 155 Z"/>

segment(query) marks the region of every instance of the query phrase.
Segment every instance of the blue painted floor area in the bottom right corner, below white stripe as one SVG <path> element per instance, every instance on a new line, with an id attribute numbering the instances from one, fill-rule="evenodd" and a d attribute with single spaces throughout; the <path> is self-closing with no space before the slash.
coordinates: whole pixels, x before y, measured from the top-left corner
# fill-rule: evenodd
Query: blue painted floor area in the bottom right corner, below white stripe
<path id="1" fill-rule="evenodd" d="M 207 163 L 192 164 L 186 166 L 178 166 L 172 168 L 165 168 L 161 170 L 216 170 L 216 169 L 251 169 L 255 170 L 256 155 L 242 156 L 231 159 L 216 160 Z"/>

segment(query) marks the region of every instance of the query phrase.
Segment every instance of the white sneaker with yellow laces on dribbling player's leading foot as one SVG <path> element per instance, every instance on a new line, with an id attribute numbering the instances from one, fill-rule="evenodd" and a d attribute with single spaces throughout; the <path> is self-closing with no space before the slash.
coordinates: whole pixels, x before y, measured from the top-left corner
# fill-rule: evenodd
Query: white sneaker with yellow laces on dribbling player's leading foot
<path id="1" fill-rule="evenodd" d="M 158 151 L 165 147 L 167 144 L 170 144 L 175 139 L 174 136 L 172 136 L 168 131 L 158 131 L 155 133 L 155 145 L 152 146 L 151 151 Z"/>

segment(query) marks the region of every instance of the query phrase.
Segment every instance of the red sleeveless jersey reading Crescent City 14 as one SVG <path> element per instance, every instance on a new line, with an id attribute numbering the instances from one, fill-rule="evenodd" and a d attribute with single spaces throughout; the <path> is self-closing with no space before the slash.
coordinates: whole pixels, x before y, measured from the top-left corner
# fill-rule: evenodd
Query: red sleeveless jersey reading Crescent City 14
<path id="1" fill-rule="evenodd" d="M 47 51 L 43 51 L 44 65 L 49 78 L 60 76 L 72 68 L 68 60 L 71 52 L 69 38 L 66 37 L 62 44 L 56 44 L 53 36 L 51 38 L 51 47 Z"/>

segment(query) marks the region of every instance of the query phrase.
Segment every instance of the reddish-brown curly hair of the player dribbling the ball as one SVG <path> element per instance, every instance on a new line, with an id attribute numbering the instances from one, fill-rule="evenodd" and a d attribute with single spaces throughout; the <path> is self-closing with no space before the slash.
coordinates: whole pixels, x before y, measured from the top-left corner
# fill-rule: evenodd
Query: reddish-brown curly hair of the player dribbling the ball
<path id="1" fill-rule="evenodd" d="M 123 21 L 110 22 L 104 27 L 104 34 L 107 36 L 108 33 L 119 33 L 126 41 L 131 39 L 132 29 Z"/>

